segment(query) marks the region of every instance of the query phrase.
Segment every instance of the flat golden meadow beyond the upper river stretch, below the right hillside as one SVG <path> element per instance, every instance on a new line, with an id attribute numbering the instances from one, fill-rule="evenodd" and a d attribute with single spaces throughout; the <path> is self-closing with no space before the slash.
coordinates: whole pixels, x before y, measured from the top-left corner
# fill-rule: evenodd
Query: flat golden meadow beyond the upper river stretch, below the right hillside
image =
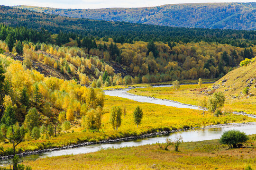
<path id="1" fill-rule="evenodd" d="M 131 89 L 128 93 L 198 105 L 201 98 L 207 96 L 201 91 L 207 90 L 207 88 L 210 88 L 212 85 L 213 84 L 202 84 L 201 87 L 199 87 L 199 85 L 181 85 L 177 90 L 173 87 L 147 87 Z M 246 96 L 242 96 L 240 98 L 233 98 L 233 96 L 228 94 L 225 94 L 225 96 L 227 100 L 223 110 L 244 111 L 248 114 L 256 114 L 255 97 L 246 98 Z"/>

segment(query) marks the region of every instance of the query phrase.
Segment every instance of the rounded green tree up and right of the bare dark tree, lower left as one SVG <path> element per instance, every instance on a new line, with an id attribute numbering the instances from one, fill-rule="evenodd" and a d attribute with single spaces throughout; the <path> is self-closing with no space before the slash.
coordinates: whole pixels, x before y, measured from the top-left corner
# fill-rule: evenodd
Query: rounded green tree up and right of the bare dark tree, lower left
<path id="1" fill-rule="evenodd" d="M 39 126 L 39 114 L 36 108 L 31 108 L 28 110 L 24 124 L 30 132 L 34 127 Z"/>

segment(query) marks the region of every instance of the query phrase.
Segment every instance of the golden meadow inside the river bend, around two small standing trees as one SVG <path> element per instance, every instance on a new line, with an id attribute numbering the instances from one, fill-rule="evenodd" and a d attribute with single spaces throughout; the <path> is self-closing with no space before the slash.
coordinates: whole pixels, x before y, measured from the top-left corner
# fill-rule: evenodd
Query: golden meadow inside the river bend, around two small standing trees
<path id="1" fill-rule="evenodd" d="M 122 124 L 118 130 L 113 130 L 110 124 L 110 110 L 113 106 L 127 106 L 127 115 L 122 116 Z M 140 106 L 144 112 L 141 125 L 137 126 L 133 122 L 133 111 L 136 106 Z M 43 137 L 36 141 L 25 141 L 17 146 L 19 152 L 41 150 L 51 147 L 61 147 L 69 144 L 77 144 L 86 141 L 94 142 L 106 139 L 114 139 L 126 136 L 138 136 L 145 133 L 164 131 L 171 129 L 182 129 L 184 127 L 202 127 L 214 124 L 224 124 L 232 122 L 249 122 L 255 119 L 242 115 L 228 114 L 221 117 L 213 117 L 206 112 L 202 116 L 201 110 L 181 109 L 167 107 L 151 103 L 141 103 L 132 100 L 106 96 L 103 110 L 102 126 L 99 132 L 83 130 L 78 126 L 81 122 L 76 120 L 69 133 L 61 134 L 57 137 Z M 73 133 L 72 133 L 73 131 Z M 0 144 L 4 151 L 1 154 L 11 154 L 11 144 Z"/>

